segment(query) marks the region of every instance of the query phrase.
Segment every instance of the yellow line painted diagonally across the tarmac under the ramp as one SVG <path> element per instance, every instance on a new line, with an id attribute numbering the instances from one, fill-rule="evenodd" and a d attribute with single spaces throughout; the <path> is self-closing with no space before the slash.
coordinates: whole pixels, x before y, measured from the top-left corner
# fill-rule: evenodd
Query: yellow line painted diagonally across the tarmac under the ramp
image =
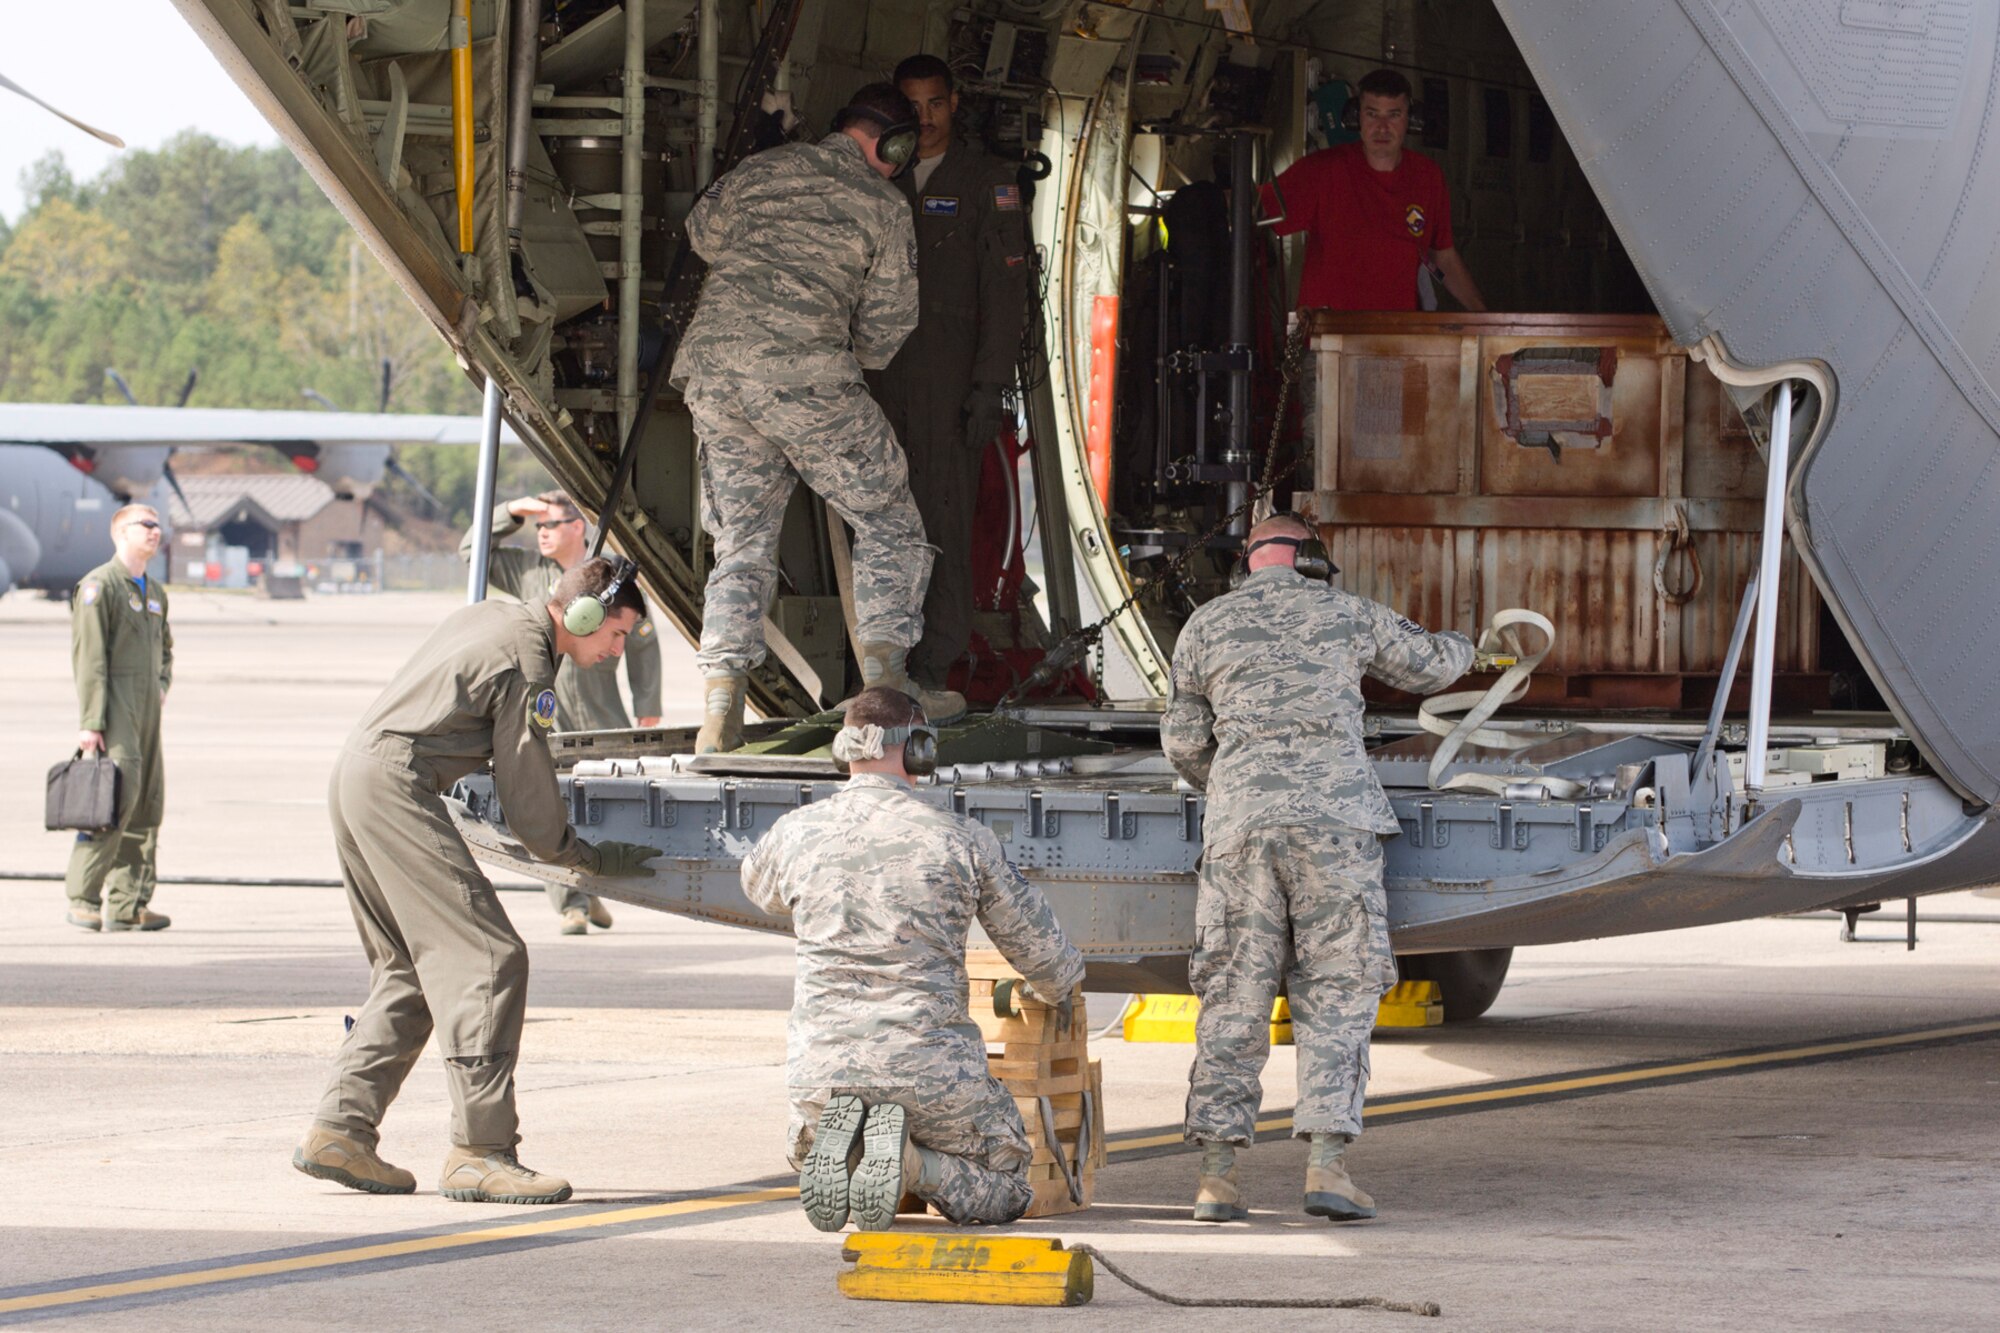
<path id="1" fill-rule="evenodd" d="M 1382 1121 L 1388 1117 L 1410 1115 L 1416 1111 L 1440 1111 L 1450 1107 L 1532 1101 L 1538 1097 L 1580 1093 L 1590 1089 L 1640 1087 L 1646 1083 L 1660 1083 L 1668 1079 L 1686 1079 L 1690 1075 L 1794 1065 L 1798 1061 L 1828 1059 L 1836 1055 L 1858 1055 L 1864 1051 L 1892 1051 L 1896 1047 L 1912 1047 L 1932 1041 L 1952 1041 L 1956 1037 L 1988 1037 L 1996 1033 L 2000 1033 L 2000 1021 L 1960 1023 L 1956 1027 L 1932 1027 L 1918 1033 L 1892 1033 L 1888 1037 L 1860 1037 L 1854 1041 L 1824 1041 L 1810 1047 L 1786 1047 L 1780 1051 L 1758 1051 L 1752 1055 L 1718 1055 L 1700 1061 L 1680 1061 L 1676 1065 L 1652 1065 L 1646 1069 L 1610 1069 L 1594 1075 L 1576 1075 L 1570 1079 L 1546 1079 L 1542 1083 L 1526 1083 L 1516 1087 L 1472 1089 L 1464 1093 L 1440 1093 L 1438 1097 L 1396 1099 L 1384 1107 L 1370 1107 L 1366 1119 Z M 1258 1133 L 1272 1133 L 1290 1127 L 1292 1127 L 1292 1117 L 1288 1115 L 1256 1123 Z M 1180 1133 L 1146 1135 L 1144 1139 L 1118 1139 L 1116 1143 L 1106 1145 L 1106 1151 L 1110 1155 L 1118 1155 L 1118 1153 L 1136 1153 L 1142 1149 L 1170 1147 L 1178 1143 L 1182 1143 Z M 162 1291 L 186 1291 L 190 1287 L 212 1287 L 218 1283 L 236 1283 L 254 1277 L 308 1273 L 312 1269 L 334 1269 L 350 1263 L 372 1263 L 378 1259 L 434 1255 L 442 1251 L 470 1249 L 476 1245 L 504 1245 L 508 1241 L 522 1241 L 532 1237 L 564 1235 L 574 1231 L 598 1231 L 604 1227 L 624 1227 L 630 1223 L 660 1221 L 666 1217 L 688 1217 L 694 1213 L 740 1209 L 754 1203 L 774 1203 L 778 1199 L 796 1199 L 796 1197 L 798 1197 L 796 1187 L 754 1189 L 734 1195 L 714 1195 L 708 1199 L 682 1199 L 680 1203 L 654 1203 L 644 1207 L 612 1209 L 608 1213 L 552 1217 L 548 1221 L 520 1223 L 514 1227 L 480 1227 L 476 1231 L 426 1235 L 408 1241 L 354 1245 L 350 1249 L 328 1249 L 316 1255 L 294 1255 L 290 1259 L 232 1263 L 216 1269 L 166 1273 L 162 1277 L 138 1277 L 124 1283 L 102 1283 L 96 1287 L 66 1287 L 60 1291 L 44 1291 L 38 1295 L 0 1299 L 0 1315 L 14 1315 L 36 1309 L 58 1309 L 64 1305 L 86 1305 L 90 1301 L 112 1301 L 118 1297 L 154 1295 Z"/>

